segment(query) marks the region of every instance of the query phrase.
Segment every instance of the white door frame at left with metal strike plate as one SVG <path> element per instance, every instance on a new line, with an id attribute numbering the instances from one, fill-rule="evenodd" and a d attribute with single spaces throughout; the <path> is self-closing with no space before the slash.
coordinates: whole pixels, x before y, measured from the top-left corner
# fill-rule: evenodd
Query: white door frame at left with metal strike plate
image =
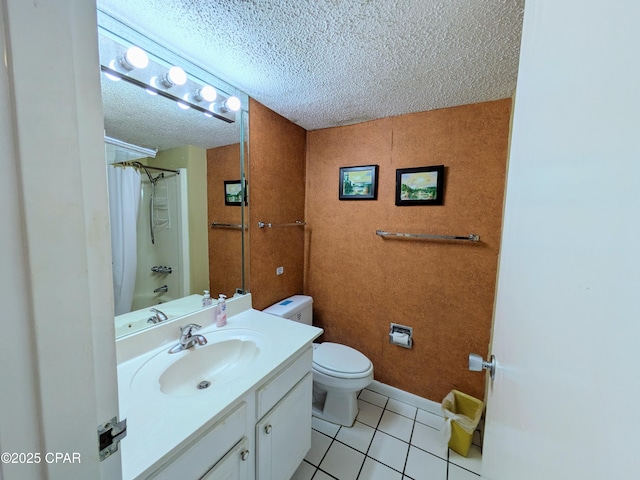
<path id="1" fill-rule="evenodd" d="M 1 1 L 0 50 L 0 477 L 117 480 L 95 2 Z"/>

